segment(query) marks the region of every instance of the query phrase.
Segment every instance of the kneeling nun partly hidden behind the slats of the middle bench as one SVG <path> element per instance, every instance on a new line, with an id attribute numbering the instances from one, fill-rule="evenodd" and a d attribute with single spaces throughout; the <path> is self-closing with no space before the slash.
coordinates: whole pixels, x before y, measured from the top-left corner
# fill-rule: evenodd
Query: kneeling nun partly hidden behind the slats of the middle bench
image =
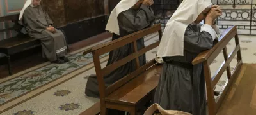
<path id="1" fill-rule="evenodd" d="M 111 12 L 108 24 L 106 25 L 106 30 L 113 33 L 112 40 L 150 27 L 155 19 L 154 13 L 150 8 L 153 3 L 153 0 L 120 1 Z M 143 38 L 138 39 L 137 47 L 138 50 L 144 48 Z M 114 62 L 127 57 L 131 53 L 133 53 L 132 43 L 110 51 L 107 65 L 113 64 Z M 139 61 L 140 65 L 146 64 L 145 54 L 139 57 Z M 135 68 L 136 61 L 132 60 L 111 72 L 108 76 L 104 76 L 106 87 L 131 73 Z M 89 76 L 85 88 L 85 94 L 89 97 L 99 98 L 99 86 L 96 75 Z"/>

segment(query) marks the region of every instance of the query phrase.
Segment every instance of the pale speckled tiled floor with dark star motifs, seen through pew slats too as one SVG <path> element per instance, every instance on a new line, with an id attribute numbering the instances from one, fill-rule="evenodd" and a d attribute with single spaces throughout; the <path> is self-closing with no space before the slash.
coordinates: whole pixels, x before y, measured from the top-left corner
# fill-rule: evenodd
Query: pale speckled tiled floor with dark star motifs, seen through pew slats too
<path id="1" fill-rule="evenodd" d="M 256 36 L 239 36 L 242 50 L 243 62 L 245 63 L 256 63 Z M 151 44 L 156 41 L 157 38 L 154 38 L 150 41 L 147 41 L 145 44 Z M 230 41 L 227 46 L 228 53 L 230 53 L 234 49 L 234 39 Z M 157 48 L 147 53 L 147 60 L 149 58 L 154 58 L 157 53 Z M 218 70 L 218 67 L 223 62 L 223 53 L 216 58 L 213 64 L 211 64 L 211 74 Z M 234 59 L 231 62 L 230 67 L 234 67 L 236 65 L 237 60 Z M 102 63 L 102 66 L 106 65 L 106 62 Z M 9 109 L 2 114 L 79 114 L 86 110 L 88 107 L 93 105 L 95 102 L 99 101 L 95 98 L 85 97 L 84 96 L 84 88 L 87 82 L 87 76 L 90 74 L 94 74 L 94 68 L 81 72 L 81 74 L 77 74 L 74 78 L 61 83 L 58 86 L 54 86 L 53 88 L 41 93 L 40 95 L 31 98 L 30 100 L 23 102 L 12 109 Z M 75 74 L 75 73 L 72 73 Z M 221 77 L 216 90 L 220 90 L 224 85 L 223 81 L 227 79 L 227 74 L 223 74 Z M 64 77 L 63 77 L 64 78 Z M 55 81 L 54 81 L 55 82 Z"/>

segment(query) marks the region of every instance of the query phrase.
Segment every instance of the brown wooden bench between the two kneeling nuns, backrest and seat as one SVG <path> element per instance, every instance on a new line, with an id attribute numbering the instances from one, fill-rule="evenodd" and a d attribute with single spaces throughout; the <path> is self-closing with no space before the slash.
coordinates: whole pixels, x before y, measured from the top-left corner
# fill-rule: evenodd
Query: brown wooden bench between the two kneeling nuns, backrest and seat
<path id="1" fill-rule="evenodd" d="M 140 67 L 138 57 L 159 46 L 160 41 L 156 41 L 156 43 L 145 46 L 145 48 L 140 51 L 137 50 L 136 41 L 141 37 L 145 37 L 155 32 L 159 33 L 159 39 L 161 39 L 162 32 L 160 24 L 153 25 L 150 28 L 140 30 L 109 43 L 100 44 L 84 52 L 84 55 L 90 52 L 93 54 L 93 62 L 97 74 L 97 81 L 99 83 L 101 115 L 108 114 L 108 109 L 128 111 L 131 115 L 135 115 L 136 111 L 138 111 L 140 107 L 153 99 L 162 65 L 158 65 L 153 58 L 147 62 L 147 64 Z M 134 44 L 134 53 L 111 65 L 108 65 L 107 67 L 101 67 L 100 55 L 129 43 Z M 136 70 L 116 81 L 113 85 L 108 86 L 108 88 L 105 88 L 104 76 L 134 59 L 136 60 Z M 91 111 L 97 110 L 95 107 L 90 109 Z"/>

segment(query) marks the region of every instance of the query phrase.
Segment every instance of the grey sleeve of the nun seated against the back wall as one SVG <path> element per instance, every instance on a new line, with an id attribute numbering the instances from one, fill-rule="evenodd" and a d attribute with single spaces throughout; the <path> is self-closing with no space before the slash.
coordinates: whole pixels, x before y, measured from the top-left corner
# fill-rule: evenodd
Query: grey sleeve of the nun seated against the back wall
<path id="1" fill-rule="evenodd" d="M 23 13 L 24 24 L 28 26 L 28 31 L 42 32 L 46 29 L 44 25 L 38 22 L 36 15 L 32 13 L 30 9 L 26 9 Z"/>

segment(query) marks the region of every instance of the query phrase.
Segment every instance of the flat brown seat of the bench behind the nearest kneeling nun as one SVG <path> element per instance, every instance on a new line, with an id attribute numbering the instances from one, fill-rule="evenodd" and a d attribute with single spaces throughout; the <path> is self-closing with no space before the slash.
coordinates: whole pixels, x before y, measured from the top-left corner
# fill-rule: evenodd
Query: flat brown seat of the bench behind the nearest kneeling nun
<path id="1" fill-rule="evenodd" d="M 161 69 L 162 65 L 154 65 L 121 88 L 118 88 L 118 90 L 104 98 L 107 102 L 107 106 L 108 102 L 126 105 L 138 104 L 141 98 L 146 97 L 156 88 Z"/>

